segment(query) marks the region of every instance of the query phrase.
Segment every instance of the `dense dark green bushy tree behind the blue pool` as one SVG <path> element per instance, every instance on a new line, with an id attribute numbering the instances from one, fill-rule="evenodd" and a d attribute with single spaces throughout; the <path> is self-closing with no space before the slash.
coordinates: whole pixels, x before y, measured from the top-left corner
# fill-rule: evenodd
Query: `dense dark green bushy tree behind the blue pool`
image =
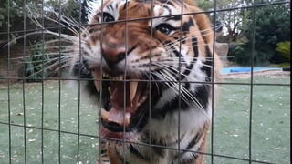
<path id="1" fill-rule="evenodd" d="M 263 1 L 263 3 L 265 3 Z M 245 36 L 247 42 L 241 46 L 244 51 L 235 55 L 236 61 L 250 65 L 252 45 L 255 47 L 254 64 L 262 65 L 267 62 L 281 63 L 282 57 L 276 52 L 276 44 L 290 40 L 290 7 L 284 5 L 266 5 L 258 7 L 254 14 L 250 12 L 247 25 L 242 27 L 240 36 Z M 255 40 L 253 23 L 255 22 Z"/>

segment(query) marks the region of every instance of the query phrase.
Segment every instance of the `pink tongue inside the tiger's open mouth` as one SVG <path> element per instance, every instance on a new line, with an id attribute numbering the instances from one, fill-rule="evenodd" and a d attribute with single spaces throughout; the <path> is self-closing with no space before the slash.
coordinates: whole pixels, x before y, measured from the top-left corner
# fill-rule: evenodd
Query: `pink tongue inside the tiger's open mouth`
<path id="1" fill-rule="evenodd" d="M 103 111 L 101 117 L 106 122 L 116 122 L 120 126 L 127 127 L 130 124 L 130 114 L 138 108 L 141 89 L 138 82 L 114 82 L 111 84 L 110 96 L 111 108 Z"/>

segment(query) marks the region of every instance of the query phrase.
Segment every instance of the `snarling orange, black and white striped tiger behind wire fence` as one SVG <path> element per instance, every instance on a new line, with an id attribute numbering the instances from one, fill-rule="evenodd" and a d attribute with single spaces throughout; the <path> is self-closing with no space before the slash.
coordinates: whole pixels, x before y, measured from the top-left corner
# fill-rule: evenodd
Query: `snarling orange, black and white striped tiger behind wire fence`
<path id="1" fill-rule="evenodd" d="M 193 0 L 104 0 L 70 72 L 98 103 L 98 163 L 204 162 L 221 62 Z"/>

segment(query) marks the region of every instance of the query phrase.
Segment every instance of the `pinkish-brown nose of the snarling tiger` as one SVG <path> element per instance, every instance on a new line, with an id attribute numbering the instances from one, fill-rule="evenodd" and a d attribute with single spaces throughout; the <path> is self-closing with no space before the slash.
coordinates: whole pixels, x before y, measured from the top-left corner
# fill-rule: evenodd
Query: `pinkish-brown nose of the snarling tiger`
<path id="1" fill-rule="evenodd" d="M 102 46 L 101 54 L 109 67 L 115 67 L 126 57 L 126 48 L 122 46 Z"/>

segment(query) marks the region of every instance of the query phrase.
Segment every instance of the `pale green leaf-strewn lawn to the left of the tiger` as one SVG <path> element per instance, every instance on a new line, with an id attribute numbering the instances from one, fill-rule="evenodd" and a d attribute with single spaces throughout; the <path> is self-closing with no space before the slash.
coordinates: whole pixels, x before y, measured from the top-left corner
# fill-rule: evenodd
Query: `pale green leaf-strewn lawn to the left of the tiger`
<path id="1" fill-rule="evenodd" d="M 60 90 L 60 94 L 59 94 Z M 11 127 L 11 152 L 13 163 L 24 163 L 25 153 L 27 163 L 41 162 L 41 128 L 42 126 L 42 97 L 44 97 L 43 127 L 51 130 L 43 131 L 44 161 L 45 163 L 57 163 L 60 153 L 62 163 L 83 163 L 97 159 L 99 139 L 81 136 L 79 138 L 78 152 L 78 88 L 68 87 L 63 83 L 45 83 L 44 95 L 41 84 L 13 85 L 10 87 L 10 122 L 16 125 L 24 125 L 36 128 Z M 0 89 L 0 121 L 8 122 L 8 94 L 7 88 Z M 25 101 L 23 97 L 25 95 Z M 82 98 L 81 98 L 82 99 Z M 97 136 L 98 119 L 97 107 L 81 101 L 79 105 L 79 133 Z M 24 109 L 26 113 L 24 113 Z M 25 119 L 26 118 L 26 119 Z M 60 129 L 75 134 L 59 133 Z M 26 130 L 26 152 L 24 146 L 24 130 Z M 8 126 L 0 124 L 0 163 L 8 163 L 9 141 Z M 60 134 L 60 135 L 59 135 Z M 60 141 L 60 143 L 59 143 Z M 60 152 L 58 147 L 60 145 Z"/>

